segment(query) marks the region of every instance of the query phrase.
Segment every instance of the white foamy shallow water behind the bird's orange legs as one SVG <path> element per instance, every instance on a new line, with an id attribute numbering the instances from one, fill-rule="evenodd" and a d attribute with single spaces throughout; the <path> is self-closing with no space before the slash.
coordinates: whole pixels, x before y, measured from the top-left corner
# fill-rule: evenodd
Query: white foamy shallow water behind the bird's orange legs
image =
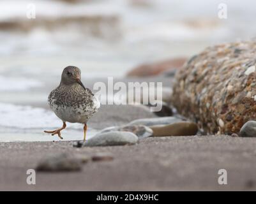
<path id="1" fill-rule="evenodd" d="M 68 141 L 84 138 L 82 124 L 68 123 L 68 127 L 61 132 L 63 140 L 57 135 L 43 133 L 43 130 L 50 131 L 62 126 L 61 120 L 44 108 L 0 103 L 0 115 L 0 142 Z M 87 139 L 96 133 L 98 131 L 88 128 Z"/>

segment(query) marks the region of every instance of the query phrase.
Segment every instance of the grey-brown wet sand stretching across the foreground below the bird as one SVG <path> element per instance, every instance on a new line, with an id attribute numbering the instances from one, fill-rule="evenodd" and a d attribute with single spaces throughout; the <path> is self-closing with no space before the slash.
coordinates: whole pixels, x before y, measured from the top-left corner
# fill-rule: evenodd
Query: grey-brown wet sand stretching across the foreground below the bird
<path id="1" fill-rule="evenodd" d="M 0 190 L 170 191 L 255 190 L 256 140 L 228 136 L 146 138 L 124 147 L 76 149 L 71 142 L 0 143 Z M 90 156 L 113 154 L 112 161 L 84 164 L 67 173 L 36 173 L 36 185 L 26 184 L 26 171 L 43 155 L 73 152 Z M 228 184 L 218 184 L 218 170 L 228 172 Z"/>

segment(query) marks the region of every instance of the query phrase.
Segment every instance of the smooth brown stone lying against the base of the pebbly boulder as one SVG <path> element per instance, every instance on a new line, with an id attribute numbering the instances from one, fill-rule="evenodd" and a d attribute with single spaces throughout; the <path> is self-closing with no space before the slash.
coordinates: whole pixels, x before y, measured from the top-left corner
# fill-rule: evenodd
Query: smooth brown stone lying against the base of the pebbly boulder
<path id="1" fill-rule="evenodd" d="M 150 126 L 153 136 L 191 136 L 196 135 L 198 128 L 194 122 L 176 122 L 169 125 Z"/>

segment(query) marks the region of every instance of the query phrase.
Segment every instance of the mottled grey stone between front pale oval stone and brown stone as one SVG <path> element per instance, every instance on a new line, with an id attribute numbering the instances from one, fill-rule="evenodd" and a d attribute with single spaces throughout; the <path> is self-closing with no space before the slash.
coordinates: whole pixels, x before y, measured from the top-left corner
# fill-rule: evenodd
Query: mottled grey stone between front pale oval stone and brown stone
<path id="1" fill-rule="evenodd" d="M 131 132 L 138 136 L 138 138 L 147 138 L 153 135 L 153 130 L 147 126 L 114 126 L 103 129 L 100 133 L 108 133 L 110 131 L 125 131 Z"/>

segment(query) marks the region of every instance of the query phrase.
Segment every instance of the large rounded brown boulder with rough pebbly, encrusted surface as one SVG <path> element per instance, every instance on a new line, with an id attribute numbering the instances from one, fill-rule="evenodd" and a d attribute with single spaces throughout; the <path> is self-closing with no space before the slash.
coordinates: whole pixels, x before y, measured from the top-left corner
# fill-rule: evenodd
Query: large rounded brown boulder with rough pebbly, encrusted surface
<path id="1" fill-rule="evenodd" d="M 256 119 L 256 41 L 206 48 L 176 73 L 172 103 L 204 133 L 239 133 Z"/>

